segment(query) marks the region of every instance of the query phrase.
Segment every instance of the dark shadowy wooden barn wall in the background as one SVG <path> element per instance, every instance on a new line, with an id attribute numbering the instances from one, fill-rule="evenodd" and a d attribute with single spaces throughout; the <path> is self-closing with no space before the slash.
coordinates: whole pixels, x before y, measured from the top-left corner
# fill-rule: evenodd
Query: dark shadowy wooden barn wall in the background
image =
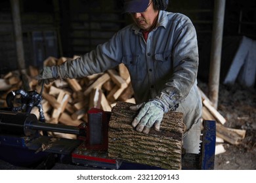
<path id="1" fill-rule="evenodd" d="M 17 69 L 10 0 L 0 2 L 0 74 Z M 198 33 L 199 76 L 207 79 L 214 0 L 170 1 L 167 10 L 186 14 Z M 21 0 L 26 65 L 42 67 L 49 56 L 84 54 L 108 41 L 131 19 L 119 0 Z M 226 0 L 224 37 L 256 39 L 256 1 Z M 206 68 L 206 69 L 205 69 Z"/>

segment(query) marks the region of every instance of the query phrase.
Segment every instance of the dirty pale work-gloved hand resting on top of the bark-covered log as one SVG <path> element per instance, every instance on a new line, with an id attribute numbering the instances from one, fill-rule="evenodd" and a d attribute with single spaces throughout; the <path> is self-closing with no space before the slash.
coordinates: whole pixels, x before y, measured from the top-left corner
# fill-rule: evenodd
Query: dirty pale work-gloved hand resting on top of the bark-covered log
<path id="1" fill-rule="evenodd" d="M 140 109 L 141 108 L 141 109 Z M 157 131 L 160 131 L 161 120 L 163 119 L 163 105 L 156 100 L 148 101 L 140 105 L 130 107 L 131 110 L 139 110 L 139 114 L 133 120 L 131 125 L 136 130 L 148 134 L 150 128 L 154 125 Z"/>

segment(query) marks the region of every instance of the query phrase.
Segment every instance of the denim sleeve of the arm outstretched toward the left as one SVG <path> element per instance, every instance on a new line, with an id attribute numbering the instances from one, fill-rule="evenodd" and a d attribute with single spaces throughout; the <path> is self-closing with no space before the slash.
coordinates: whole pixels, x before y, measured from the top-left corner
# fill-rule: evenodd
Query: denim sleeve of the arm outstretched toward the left
<path id="1" fill-rule="evenodd" d="M 116 33 L 110 41 L 96 46 L 95 50 L 80 58 L 66 61 L 58 66 L 60 78 L 81 78 L 116 67 L 122 58 L 120 44 L 119 33 Z"/>

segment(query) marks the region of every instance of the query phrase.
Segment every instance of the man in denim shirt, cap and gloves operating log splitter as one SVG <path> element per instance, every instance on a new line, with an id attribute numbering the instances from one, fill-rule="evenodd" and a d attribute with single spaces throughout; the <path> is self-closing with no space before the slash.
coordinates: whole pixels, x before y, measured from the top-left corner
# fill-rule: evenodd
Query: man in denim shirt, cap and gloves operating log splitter
<path id="1" fill-rule="evenodd" d="M 198 44 L 196 30 L 186 16 L 166 12 L 166 0 L 124 0 L 124 10 L 135 24 L 118 31 L 81 58 L 45 67 L 37 79 L 79 78 L 124 63 L 131 75 L 140 110 L 133 127 L 148 133 L 160 130 L 163 114 L 184 114 L 186 152 L 198 153 L 202 101 L 197 88 Z"/>

